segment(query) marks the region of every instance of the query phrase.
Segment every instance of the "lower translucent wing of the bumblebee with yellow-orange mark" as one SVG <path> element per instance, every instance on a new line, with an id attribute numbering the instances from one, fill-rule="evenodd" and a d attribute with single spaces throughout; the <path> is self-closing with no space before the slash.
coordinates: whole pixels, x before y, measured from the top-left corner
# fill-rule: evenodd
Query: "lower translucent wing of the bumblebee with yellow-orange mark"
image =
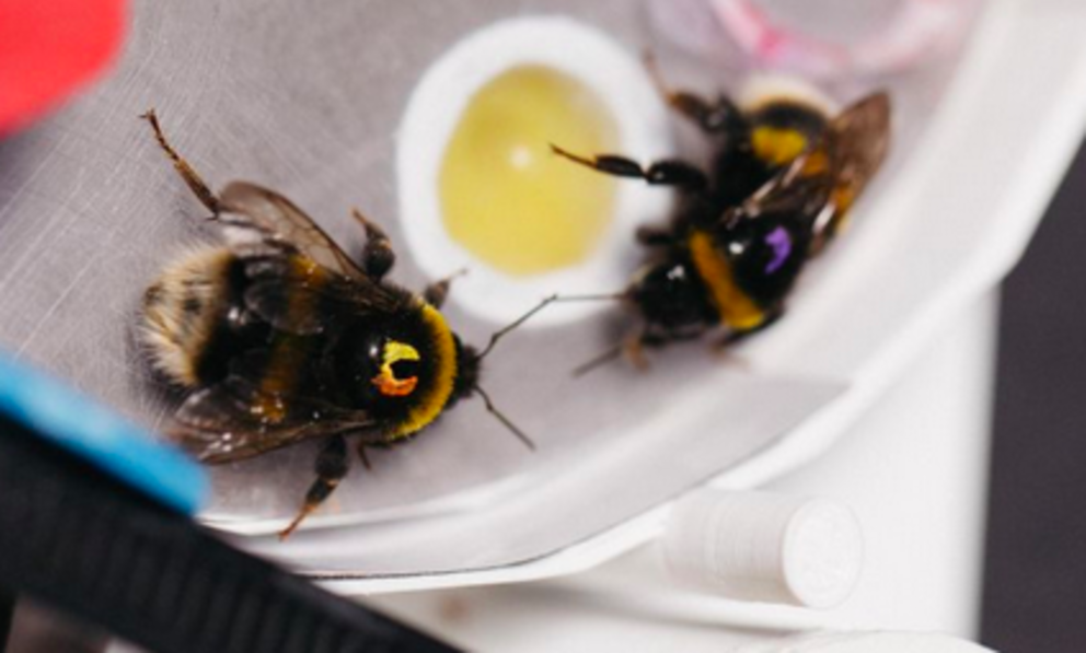
<path id="1" fill-rule="evenodd" d="M 193 393 L 174 416 L 169 434 L 199 460 L 244 460 L 305 440 L 369 432 L 380 440 L 377 420 L 304 397 L 261 390 L 236 375 Z"/>

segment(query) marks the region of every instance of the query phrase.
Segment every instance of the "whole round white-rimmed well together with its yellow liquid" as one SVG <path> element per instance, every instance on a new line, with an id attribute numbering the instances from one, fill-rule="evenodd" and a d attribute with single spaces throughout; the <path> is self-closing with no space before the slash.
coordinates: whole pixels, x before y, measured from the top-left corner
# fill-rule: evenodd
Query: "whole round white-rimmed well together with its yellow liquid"
<path id="1" fill-rule="evenodd" d="M 512 88 L 504 92 L 506 83 Z M 509 92 L 513 90 L 519 93 Z M 564 119 L 581 116 L 603 126 L 598 131 L 613 131 L 613 137 L 596 135 L 590 140 L 599 142 L 586 143 L 590 148 L 603 145 L 645 160 L 670 151 L 662 100 L 638 57 L 611 37 L 566 18 L 520 18 L 484 27 L 453 46 L 423 75 L 401 124 L 396 155 L 401 223 L 415 260 L 434 278 L 470 270 L 458 280 L 453 300 L 495 323 L 517 317 L 550 293 L 621 288 L 631 269 L 623 254 L 633 252 L 634 228 L 666 215 L 668 195 L 637 184 L 600 183 L 550 161 L 551 141 L 577 137 L 584 129 L 558 124 L 561 132 L 545 136 L 546 119 L 525 120 L 517 106 L 507 107 L 506 115 L 515 119 L 493 125 L 495 132 L 520 130 L 505 135 L 498 145 L 507 148 L 505 166 L 494 162 L 501 179 L 486 171 L 443 171 L 450 161 L 487 161 L 485 149 L 482 155 L 463 156 L 455 149 L 463 145 L 460 130 L 465 125 L 472 128 L 481 94 L 488 93 L 507 98 L 519 95 L 522 112 L 532 112 L 540 103 L 548 103 L 553 112 L 564 98 L 568 104 L 558 106 Z M 480 142 L 485 144 L 485 140 Z M 450 153 L 459 158 L 450 160 Z M 488 184 L 502 182 L 508 187 L 518 164 L 524 164 L 525 171 L 546 170 L 554 175 L 550 179 L 558 183 L 551 185 L 550 197 L 532 194 L 532 188 L 539 190 L 542 185 L 523 184 L 527 191 L 501 198 L 505 208 L 489 218 L 461 215 L 458 222 L 447 214 L 450 202 L 443 201 L 443 195 L 444 199 L 467 198 L 466 205 L 474 197 L 477 203 L 475 196 L 487 193 Z M 442 182 L 450 177 L 458 177 L 454 184 L 477 184 L 482 190 L 467 186 L 442 193 Z M 606 194 L 613 200 L 599 197 Z M 553 217 L 550 230 L 541 223 L 547 217 L 541 207 L 548 201 L 555 202 L 553 212 L 563 212 Z M 598 207 L 598 214 L 590 215 L 586 224 L 570 223 L 563 207 L 584 211 L 586 205 L 589 212 Z M 495 228 L 502 221 L 509 224 Z M 540 237 L 543 233 L 550 235 Z M 494 252 L 501 248 L 506 249 Z M 573 320 L 604 308 L 570 305 L 544 312 L 533 324 Z"/>

